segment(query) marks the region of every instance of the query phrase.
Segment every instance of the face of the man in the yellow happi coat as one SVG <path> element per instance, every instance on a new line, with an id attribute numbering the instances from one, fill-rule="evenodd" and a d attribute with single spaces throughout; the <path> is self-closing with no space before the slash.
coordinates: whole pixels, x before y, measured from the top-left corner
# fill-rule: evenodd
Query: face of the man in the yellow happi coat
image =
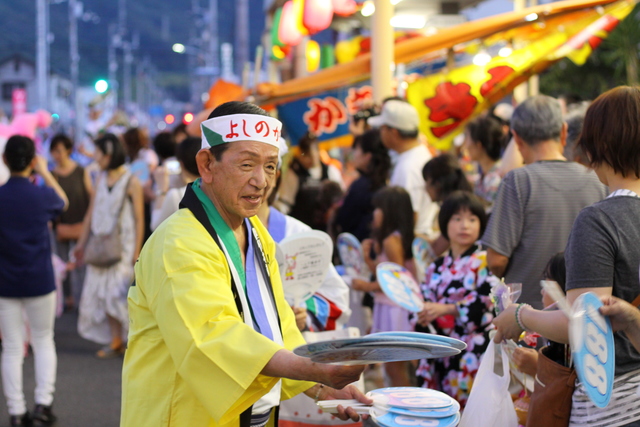
<path id="1" fill-rule="evenodd" d="M 256 141 L 233 142 L 220 161 L 213 158 L 210 190 L 220 214 L 232 221 L 256 215 L 275 185 L 277 165 L 278 149 Z"/>

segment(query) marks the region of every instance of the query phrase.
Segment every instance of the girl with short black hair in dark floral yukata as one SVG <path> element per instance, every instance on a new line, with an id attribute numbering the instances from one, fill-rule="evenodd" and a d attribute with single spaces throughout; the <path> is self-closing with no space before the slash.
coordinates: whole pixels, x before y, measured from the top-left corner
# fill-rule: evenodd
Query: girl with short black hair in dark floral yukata
<path id="1" fill-rule="evenodd" d="M 464 408 L 493 328 L 491 273 L 486 252 L 476 243 L 487 217 L 476 196 L 456 191 L 442 204 L 438 223 L 450 249 L 427 270 L 416 331 L 429 332 L 431 323 L 439 335 L 462 340 L 467 348 L 456 356 L 421 360 L 416 376 L 419 385 L 447 393 Z"/>

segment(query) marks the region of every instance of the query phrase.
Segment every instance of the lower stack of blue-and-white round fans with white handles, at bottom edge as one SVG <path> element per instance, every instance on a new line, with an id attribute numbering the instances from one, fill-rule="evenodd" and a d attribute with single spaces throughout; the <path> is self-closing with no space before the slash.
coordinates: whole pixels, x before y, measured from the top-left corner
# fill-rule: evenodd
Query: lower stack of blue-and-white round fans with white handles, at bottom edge
<path id="1" fill-rule="evenodd" d="M 460 404 L 450 396 L 426 388 L 390 387 L 367 393 L 373 405 L 357 400 L 324 400 L 318 406 L 324 412 L 337 413 L 338 405 L 369 414 L 382 427 L 452 427 L 460 422 Z"/>

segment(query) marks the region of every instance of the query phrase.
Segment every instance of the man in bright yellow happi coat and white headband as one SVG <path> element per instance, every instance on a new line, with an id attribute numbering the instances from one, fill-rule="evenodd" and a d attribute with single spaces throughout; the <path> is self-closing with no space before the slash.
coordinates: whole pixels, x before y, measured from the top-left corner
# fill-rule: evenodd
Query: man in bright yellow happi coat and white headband
<path id="1" fill-rule="evenodd" d="M 274 185 L 282 124 L 231 102 L 201 127 L 201 178 L 136 264 L 121 426 L 260 427 L 277 420 L 280 400 L 301 392 L 372 403 L 345 387 L 363 367 L 291 352 L 304 340 L 283 296 L 275 244 L 255 216 Z M 353 408 L 339 410 L 358 419 Z"/>

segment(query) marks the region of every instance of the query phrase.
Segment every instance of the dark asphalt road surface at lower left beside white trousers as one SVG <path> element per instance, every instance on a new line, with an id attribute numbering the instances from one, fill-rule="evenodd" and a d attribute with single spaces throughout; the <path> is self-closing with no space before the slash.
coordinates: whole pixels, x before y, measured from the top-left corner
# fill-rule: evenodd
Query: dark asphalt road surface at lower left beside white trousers
<path id="1" fill-rule="evenodd" d="M 76 331 L 77 314 L 64 313 L 56 321 L 58 379 L 53 412 L 57 427 L 117 427 L 120 422 L 122 357 L 95 357 L 100 345 L 86 341 Z M 27 407 L 33 409 L 33 355 L 24 363 Z M 4 396 L 4 394 L 3 394 Z M 9 425 L 7 405 L 0 403 L 0 426 Z"/>

